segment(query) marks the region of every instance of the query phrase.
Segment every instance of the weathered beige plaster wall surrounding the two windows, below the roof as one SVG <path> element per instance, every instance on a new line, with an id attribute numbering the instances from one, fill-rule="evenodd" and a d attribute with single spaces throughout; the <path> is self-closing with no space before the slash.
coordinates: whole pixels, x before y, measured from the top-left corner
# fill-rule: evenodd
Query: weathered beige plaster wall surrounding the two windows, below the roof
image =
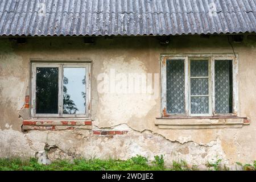
<path id="1" fill-rule="evenodd" d="M 250 125 L 239 129 L 168 130 L 155 126 L 160 116 L 158 97 L 148 94 L 98 92 L 100 73 L 160 73 L 161 53 L 233 53 L 226 36 L 176 36 L 167 46 L 153 37 L 97 38 L 96 45 L 85 45 L 82 38 L 29 38 L 17 45 L 0 39 L 0 157 L 34 156 L 46 143 L 57 154 L 127 159 L 136 154 L 153 158 L 164 154 L 167 162 L 184 159 L 190 164 L 250 163 L 256 159 L 256 43 L 246 36 L 243 43 L 233 43 L 239 54 L 240 116 L 249 117 Z M 126 130 L 127 134 L 98 137 L 90 130 L 30 131 L 22 133 L 23 119 L 18 111 L 30 85 L 30 60 L 92 61 L 93 130 Z M 154 78 L 153 78 L 154 79 Z M 153 85 L 154 86 L 154 85 Z M 155 93 L 156 94 L 156 93 Z M 54 147 L 53 147 L 54 148 Z"/>

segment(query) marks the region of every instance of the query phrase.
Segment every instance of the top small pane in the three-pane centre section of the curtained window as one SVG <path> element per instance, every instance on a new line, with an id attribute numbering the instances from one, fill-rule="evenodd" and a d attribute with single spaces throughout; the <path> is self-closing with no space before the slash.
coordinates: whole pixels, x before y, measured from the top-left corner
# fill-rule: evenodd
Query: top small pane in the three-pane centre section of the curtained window
<path id="1" fill-rule="evenodd" d="M 191 77 L 208 76 L 208 60 L 191 60 Z"/>

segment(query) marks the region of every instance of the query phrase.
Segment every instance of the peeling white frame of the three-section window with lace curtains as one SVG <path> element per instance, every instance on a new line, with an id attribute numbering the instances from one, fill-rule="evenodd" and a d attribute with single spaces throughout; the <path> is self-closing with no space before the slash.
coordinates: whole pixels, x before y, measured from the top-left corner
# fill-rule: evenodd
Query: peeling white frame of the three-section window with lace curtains
<path id="1" fill-rule="evenodd" d="M 166 83 L 166 61 L 167 60 L 184 60 L 185 75 L 185 114 L 167 113 L 167 83 Z M 209 114 L 191 114 L 191 89 L 190 89 L 190 60 L 208 59 L 208 77 L 209 77 Z M 233 73 L 233 113 L 216 114 L 214 109 L 214 61 L 215 60 L 232 60 Z M 214 117 L 214 116 L 237 116 L 238 115 L 238 55 L 234 54 L 179 54 L 179 55 L 160 55 L 161 67 L 161 113 L 162 117 Z"/>

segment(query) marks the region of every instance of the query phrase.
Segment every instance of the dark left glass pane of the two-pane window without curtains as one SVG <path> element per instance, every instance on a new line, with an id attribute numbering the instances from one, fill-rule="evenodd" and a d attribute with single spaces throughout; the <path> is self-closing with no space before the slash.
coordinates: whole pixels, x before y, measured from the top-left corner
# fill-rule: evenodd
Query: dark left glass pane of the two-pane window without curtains
<path id="1" fill-rule="evenodd" d="M 58 114 L 59 68 L 36 68 L 36 113 Z"/>

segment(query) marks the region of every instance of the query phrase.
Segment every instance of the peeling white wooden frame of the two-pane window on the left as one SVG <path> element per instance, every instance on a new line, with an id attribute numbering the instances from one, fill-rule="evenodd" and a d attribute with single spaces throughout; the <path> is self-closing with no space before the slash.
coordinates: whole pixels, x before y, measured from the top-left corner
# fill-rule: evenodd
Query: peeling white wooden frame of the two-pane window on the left
<path id="1" fill-rule="evenodd" d="M 59 68 L 58 114 L 36 114 L 36 68 Z M 85 114 L 63 114 L 63 78 L 64 68 L 86 69 L 86 105 Z M 90 63 L 31 63 L 31 116 L 33 118 L 89 118 L 90 117 Z"/>

